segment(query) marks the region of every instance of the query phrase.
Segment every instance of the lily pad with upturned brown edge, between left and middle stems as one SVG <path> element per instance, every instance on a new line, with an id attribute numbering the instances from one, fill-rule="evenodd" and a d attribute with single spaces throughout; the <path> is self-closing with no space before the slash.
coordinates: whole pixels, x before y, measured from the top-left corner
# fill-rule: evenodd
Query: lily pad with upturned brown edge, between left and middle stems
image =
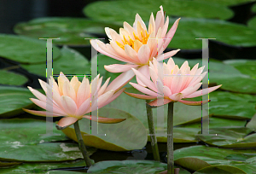
<path id="1" fill-rule="evenodd" d="M 114 108 L 101 108 L 98 110 L 101 117 L 125 119 L 118 124 L 98 124 L 98 132 L 90 134 L 90 120 L 81 119 L 80 129 L 86 146 L 102 148 L 112 151 L 128 151 L 141 149 L 147 143 L 147 131 L 143 124 L 130 113 L 126 113 Z M 77 141 L 73 125 L 66 128 L 63 132 Z"/>

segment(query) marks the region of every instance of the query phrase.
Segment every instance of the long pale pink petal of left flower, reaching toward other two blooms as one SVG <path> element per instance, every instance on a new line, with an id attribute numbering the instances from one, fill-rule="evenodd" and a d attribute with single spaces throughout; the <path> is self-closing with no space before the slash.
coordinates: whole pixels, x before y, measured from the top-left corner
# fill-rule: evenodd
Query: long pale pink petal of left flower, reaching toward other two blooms
<path id="1" fill-rule="evenodd" d="M 121 88 L 123 88 L 123 86 L 125 86 L 125 84 L 127 84 L 131 78 L 134 77 L 134 73 L 132 70 L 129 70 L 125 73 L 121 73 L 117 78 L 115 78 L 111 84 L 108 85 L 107 89 L 105 90 L 105 92 L 107 92 L 108 90 L 114 90 L 115 92 L 120 90 Z"/>

